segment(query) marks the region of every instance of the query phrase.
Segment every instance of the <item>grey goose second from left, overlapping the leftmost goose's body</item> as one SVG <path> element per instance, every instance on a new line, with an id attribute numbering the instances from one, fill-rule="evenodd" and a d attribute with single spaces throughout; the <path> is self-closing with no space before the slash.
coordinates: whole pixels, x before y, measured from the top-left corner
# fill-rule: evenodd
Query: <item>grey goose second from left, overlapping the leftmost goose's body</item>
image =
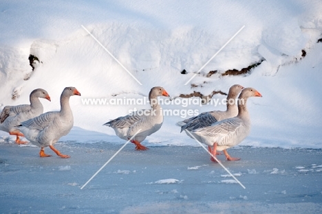
<path id="1" fill-rule="evenodd" d="M 61 110 L 54 112 L 45 112 L 38 117 L 24 121 L 17 128 L 23 132 L 25 138 L 32 144 L 41 147 L 39 155 L 49 157 L 45 154 L 44 147 L 49 146 L 61 158 L 69 158 L 69 155 L 61 154 L 54 144 L 72 129 L 74 117 L 72 109 L 69 106 L 69 97 L 73 95 L 81 96 L 81 93 L 74 87 L 66 87 L 61 93 Z"/>

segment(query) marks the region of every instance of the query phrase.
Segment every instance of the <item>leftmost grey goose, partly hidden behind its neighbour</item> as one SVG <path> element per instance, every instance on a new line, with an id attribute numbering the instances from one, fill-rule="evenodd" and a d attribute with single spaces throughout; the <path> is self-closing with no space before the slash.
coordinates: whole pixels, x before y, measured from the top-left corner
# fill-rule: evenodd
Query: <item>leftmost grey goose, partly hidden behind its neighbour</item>
<path id="1" fill-rule="evenodd" d="M 43 113 L 43 104 L 39 98 L 48 99 L 50 95 L 42 88 L 37 88 L 30 93 L 30 105 L 24 104 L 19 106 L 5 106 L 0 114 L 0 130 L 8 132 L 10 135 L 16 135 L 17 144 L 25 144 L 27 141 L 21 141 L 19 136 L 23 136 L 15 126 L 22 121 L 37 117 Z"/>

